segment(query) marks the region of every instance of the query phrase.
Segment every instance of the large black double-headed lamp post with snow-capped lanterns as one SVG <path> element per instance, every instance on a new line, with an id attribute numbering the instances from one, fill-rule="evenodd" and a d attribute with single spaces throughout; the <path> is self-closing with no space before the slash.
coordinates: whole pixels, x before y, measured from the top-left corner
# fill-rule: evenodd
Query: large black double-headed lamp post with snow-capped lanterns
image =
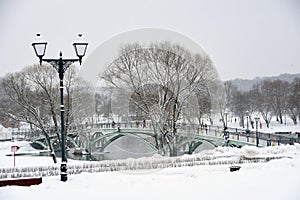
<path id="1" fill-rule="evenodd" d="M 56 69 L 59 76 L 59 88 L 60 88 L 60 123 L 61 123 L 61 167 L 60 167 L 60 175 L 61 175 L 61 181 L 67 181 L 67 157 L 66 157 L 66 148 L 65 148 L 65 122 L 64 122 L 64 85 L 63 85 L 63 79 L 64 79 L 64 73 L 69 68 L 69 66 L 74 62 L 79 62 L 81 64 L 82 57 L 85 55 L 86 48 L 88 43 L 84 42 L 82 40 L 82 34 L 78 34 L 77 40 L 73 43 L 73 46 L 75 48 L 75 52 L 77 55 L 77 59 L 63 59 L 62 58 L 62 52 L 59 53 L 58 59 L 44 59 L 44 55 L 46 52 L 46 46 L 47 42 L 41 40 L 41 35 L 36 34 L 37 41 L 32 43 L 32 46 L 34 48 L 34 51 L 36 53 L 36 56 L 40 59 L 40 65 L 42 65 L 42 62 L 47 62 L 50 65 Z"/>

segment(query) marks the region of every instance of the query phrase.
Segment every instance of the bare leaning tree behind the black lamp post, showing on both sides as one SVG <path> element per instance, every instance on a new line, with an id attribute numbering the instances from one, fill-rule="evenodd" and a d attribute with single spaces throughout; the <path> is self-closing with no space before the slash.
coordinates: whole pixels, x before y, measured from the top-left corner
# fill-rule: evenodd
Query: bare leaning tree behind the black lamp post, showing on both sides
<path id="1" fill-rule="evenodd" d="M 83 107 L 78 106 L 74 95 L 86 97 L 80 93 L 82 82 L 76 78 L 76 69 L 70 68 L 65 75 L 65 127 L 66 133 L 71 123 L 74 123 L 74 113 Z M 45 135 L 54 162 L 56 162 L 54 147 L 50 134 L 60 138 L 60 110 L 59 110 L 59 81 L 57 72 L 50 65 L 34 65 L 21 72 L 8 74 L 3 82 L 4 95 L 0 101 L 0 111 L 3 116 L 20 122 L 26 122 Z M 88 91 L 85 89 L 85 91 Z M 88 103 L 88 102 L 87 102 Z"/>

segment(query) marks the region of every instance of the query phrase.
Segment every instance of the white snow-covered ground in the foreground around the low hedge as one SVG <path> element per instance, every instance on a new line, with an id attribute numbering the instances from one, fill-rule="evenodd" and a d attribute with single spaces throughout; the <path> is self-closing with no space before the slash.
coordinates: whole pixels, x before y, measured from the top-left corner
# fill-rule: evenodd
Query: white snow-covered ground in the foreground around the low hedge
<path id="1" fill-rule="evenodd" d="M 13 157 L 6 156 L 11 153 L 11 145 L 11 142 L 0 143 L 0 167 L 12 167 Z M 20 152 L 35 153 L 26 142 L 17 145 L 21 146 Z M 239 164 L 241 169 L 236 172 L 230 172 L 229 165 L 203 165 L 82 173 L 69 175 L 67 182 L 61 182 L 59 176 L 43 177 L 43 183 L 37 186 L 0 187 L 0 199 L 300 199 L 299 144 L 259 149 L 219 147 L 184 158 L 207 155 L 284 158 L 267 163 Z M 69 164 L 78 162 L 82 161 L 69 160 Z M 17 167 L 37 165 L 54 164 L 50 157 L 16 158 Z"/>

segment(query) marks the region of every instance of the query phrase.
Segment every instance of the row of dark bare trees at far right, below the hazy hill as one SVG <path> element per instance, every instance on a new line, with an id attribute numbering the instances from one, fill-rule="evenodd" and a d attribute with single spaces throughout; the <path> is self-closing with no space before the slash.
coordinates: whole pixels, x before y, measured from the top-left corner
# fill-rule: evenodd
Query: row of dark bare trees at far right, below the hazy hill
<path id="1" fill-rule="evenodd" d="M 260 114 L 267 127 L 273 117 L 281 124 L 289 116 L 296 125 L 300 121 L 300 78 L 291 83 L 283 80 L 265 80 L 249 91 L 238 90 L 230 81 L 225 83 L 227 107 L 244 122 L 246 112 L 250 120 Z M 241 124 L 243 126 L 243 124 Z"/>

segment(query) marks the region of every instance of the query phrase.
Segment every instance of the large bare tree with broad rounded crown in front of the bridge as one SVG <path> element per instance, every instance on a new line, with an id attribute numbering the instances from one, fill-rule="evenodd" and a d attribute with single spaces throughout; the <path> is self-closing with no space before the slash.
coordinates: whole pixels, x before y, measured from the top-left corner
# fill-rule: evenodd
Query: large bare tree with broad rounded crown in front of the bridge
<path id="1" fill-rule="evenodd" d="M 128 96 L 139 117 L 151 119 L 158 149 L 171 156 L 177 155 L 177 125 L 187 103 L 218 80 L 208 57 L 168 42 L 125 46 L 101 77 Z"/>

